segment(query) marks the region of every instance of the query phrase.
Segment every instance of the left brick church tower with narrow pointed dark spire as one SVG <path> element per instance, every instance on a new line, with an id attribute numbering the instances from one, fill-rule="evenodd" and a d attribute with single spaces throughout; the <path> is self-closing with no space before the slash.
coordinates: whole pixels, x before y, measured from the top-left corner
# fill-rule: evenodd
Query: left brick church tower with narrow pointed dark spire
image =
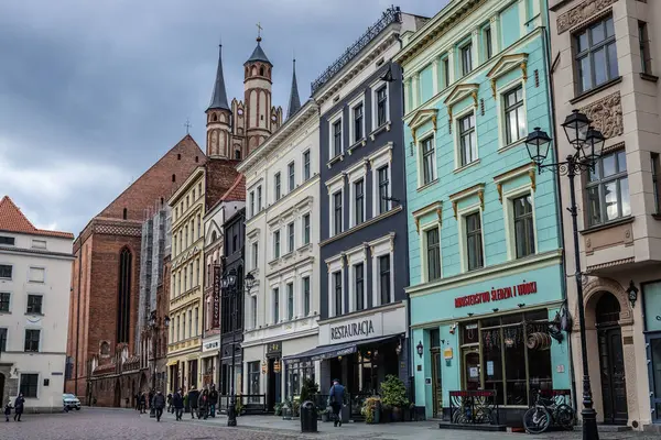
<path id="1" fill-rule="evenodd" d="M 225 91 L 225 78 L 223 76 L 223 45 L 218 50 L 218 70 L 216 72 L 216 84 L 212 102 L 206 110 L 207 139 L 206 154 L 215 158 L 234 158 L 230 152 L 231 141 L 231 111 L 227 105 L 227 92 Z M 240 158 L 240 157 L 239 157 Z"/>

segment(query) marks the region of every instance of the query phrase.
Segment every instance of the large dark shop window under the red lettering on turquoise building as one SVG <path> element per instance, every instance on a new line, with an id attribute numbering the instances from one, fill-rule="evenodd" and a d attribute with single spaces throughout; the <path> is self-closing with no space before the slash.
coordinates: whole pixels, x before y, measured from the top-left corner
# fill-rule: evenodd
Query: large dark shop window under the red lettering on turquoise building
<path id="1" fill-rule="evenodd" d="M 462 326 L 462 346 L 474 349 L 464 389 L 495 389 L 498 404 L 525 406 L 551 389 L 551 337 L 546 310 L 506 315 Z"/>

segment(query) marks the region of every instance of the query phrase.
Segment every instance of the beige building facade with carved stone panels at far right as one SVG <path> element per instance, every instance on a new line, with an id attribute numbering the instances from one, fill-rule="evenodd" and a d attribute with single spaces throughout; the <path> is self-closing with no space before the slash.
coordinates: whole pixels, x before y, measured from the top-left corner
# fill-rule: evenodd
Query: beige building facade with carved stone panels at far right
<path id="1" fill-rule="evenodd" d="M 562 210 L 577 399 L 583 375 L 574 233 L 597 420 L 651 428 L 661 422 L 661 3 L 551 0 L 549 6 L 552 138 L 559 156 L 573 153 L 561 125 L 573 109 L 606 138 L 596 168 L 576 177 L 577 232 Z M 560 177 L 563 207 L 570 206 L 568 182 Z"/>

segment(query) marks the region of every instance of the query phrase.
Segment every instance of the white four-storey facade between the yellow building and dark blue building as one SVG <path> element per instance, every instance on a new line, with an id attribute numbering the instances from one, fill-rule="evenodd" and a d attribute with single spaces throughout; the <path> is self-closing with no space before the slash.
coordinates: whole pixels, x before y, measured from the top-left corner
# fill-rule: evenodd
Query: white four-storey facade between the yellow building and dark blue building
<path id="1" fill-rule="evenodd" d="M 246 271 L 256 278 L 245 298 L 242 392 L 262 396 L 269 409 L 299 395 L 304 378 L 319 377 L 318 361 L 286 362 L 318 344 L 318 145 L 311 100 L 239 166 Z"/>

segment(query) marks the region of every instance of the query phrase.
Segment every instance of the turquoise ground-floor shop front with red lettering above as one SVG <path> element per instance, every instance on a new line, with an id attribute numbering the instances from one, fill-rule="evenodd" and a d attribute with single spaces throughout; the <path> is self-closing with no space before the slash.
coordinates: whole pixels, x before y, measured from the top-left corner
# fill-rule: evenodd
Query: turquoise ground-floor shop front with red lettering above
<path id="1" fill-rule="evenodd" d="M 491 424 L 521 426 L 538 392 L 571 389 L 560 255 L 533 260 L 409 289 L 415 405 L 427 418 L 488 422 L 462 410 L 477 396 Z"/>

